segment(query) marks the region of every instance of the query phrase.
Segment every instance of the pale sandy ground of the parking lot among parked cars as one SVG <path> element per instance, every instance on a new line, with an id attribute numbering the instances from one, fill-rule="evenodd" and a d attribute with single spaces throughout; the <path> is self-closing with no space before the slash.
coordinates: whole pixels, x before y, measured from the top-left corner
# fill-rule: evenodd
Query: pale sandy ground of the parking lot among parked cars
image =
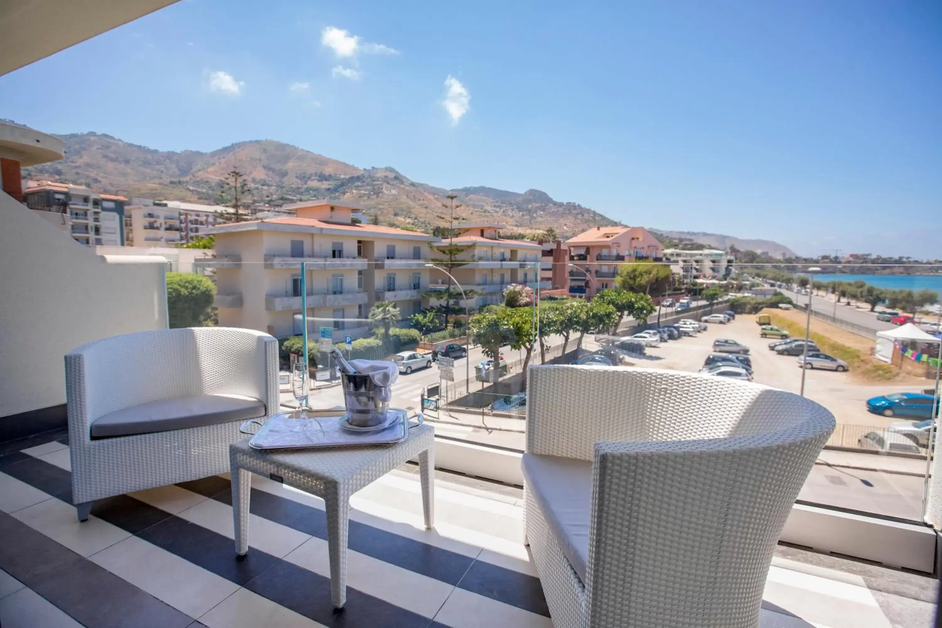
<path id="1" fill-rule="evenodd" d="M 736 320 L 726 325 L 707 324 L 707 331 L 701 331 L 695 337 L 683 337 L 649 346 L 644 359 L 633 359 L 635 366 L 651 368 L 669 368 L 680 371 L 697 372 L 704 360 L 712 353 L 713 341 L 717 338 L 730 338 L 750 348 L 749 356 L 753 361 L 753 377 L 756 383 L 766 384 L 782 390 L 798 393 L 801 387 L 802 369 L 795 357 L 781 356 L 769 350 L 771 338 L 759 337 L 759 326 L 755 316 L 739 314 Z M 812 322 L 812 328 L 814 322 Z M 926 385 L 931 385 L 932 382 Z M 870 414 L 865 401 L 872 396 L 889 393 L 918 392 L 919 386 L 900 386 L 893 384 L 862 385 L 855 383 L 848 373 L 835 371 L 810 370 L 805 374 L 805 396 L 814 399 L 834 413 L 837 423 L 854 426 L 886 427 L 901 419 L 887 419 L 877 414 Z"/>

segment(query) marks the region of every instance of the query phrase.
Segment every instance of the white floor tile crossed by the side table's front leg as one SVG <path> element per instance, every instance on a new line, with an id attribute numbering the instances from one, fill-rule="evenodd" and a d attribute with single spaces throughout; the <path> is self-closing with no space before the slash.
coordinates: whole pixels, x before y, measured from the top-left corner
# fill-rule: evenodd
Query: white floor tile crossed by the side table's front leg
<path id="1" fill-rule="evenodd" d="M 326 540 L 312 538 L 284 559 L 308 571 L 331 577 Z M 435 616 L 454 588 L 440 580 L 352 551 L 347 556 L 347 586 L 428 618 Z"/>

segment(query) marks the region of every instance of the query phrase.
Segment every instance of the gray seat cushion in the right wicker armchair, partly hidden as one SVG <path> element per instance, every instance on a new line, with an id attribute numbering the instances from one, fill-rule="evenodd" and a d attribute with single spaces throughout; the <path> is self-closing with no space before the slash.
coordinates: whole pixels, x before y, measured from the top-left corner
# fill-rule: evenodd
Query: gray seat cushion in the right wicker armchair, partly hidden
<path id="1" fill-rule="evenodd" d="M 592 462 L 524 454 L 524 479 L 562 554 L 583 583 L 589 565 Z"/>

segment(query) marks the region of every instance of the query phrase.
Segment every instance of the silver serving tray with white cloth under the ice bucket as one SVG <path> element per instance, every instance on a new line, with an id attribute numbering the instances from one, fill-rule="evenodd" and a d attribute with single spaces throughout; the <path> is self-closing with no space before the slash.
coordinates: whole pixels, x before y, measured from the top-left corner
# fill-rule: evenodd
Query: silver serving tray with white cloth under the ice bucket
<path id="1" fill-rule="evenodd" d="M 409 438 L 409 427 L 421 425 L 425 417 L 421 414 L 409 416 L 407 411 L 390 408 L 399 420 L 385 429 L 360 432 L 344 428 L 341 422 L 347 418 L 344 411 L 323 416 L 324 412 L 312 412 L 302 424 L 298 412 L 280 412 L 263 419 L 249 419 L 239 427 L 244 434 L 252 434 L 252 425 L 261 426 L 252 435 L 249 446 L 254 449 L 310 449 L 315 447 L 361 447 L 401 443 Z M 417 418 L 416 423 L 411 419 Z"/>

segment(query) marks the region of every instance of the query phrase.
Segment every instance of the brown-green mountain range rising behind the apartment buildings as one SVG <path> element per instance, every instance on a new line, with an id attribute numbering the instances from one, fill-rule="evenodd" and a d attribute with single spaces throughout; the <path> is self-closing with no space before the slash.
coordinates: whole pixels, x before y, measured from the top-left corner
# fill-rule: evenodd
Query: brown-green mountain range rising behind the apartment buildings
<path id="1" fill-rule="evenodd" d="M 448 190 L 414 182 L 397 169 L 360 169 L 269 139 L 213 151 L 155 151 L 100 133 L 58 136 L 65 158 L 24 169 L 24 176 L 84 184 L 112 194 L 171 201 L 219 201 L 226 172 L 245 173 L 257 203 L 281 205 L 327 198 L 365 206 L 382 224 L 430 230 L 442 224 L 447 194 L 458 196 L 458 215 L 472 222 L 506 224 L 524 233 L 548 227 L 574 235 L 613 220 L 575 202 L 553 200 L 541 190 L 524 193 L 493 187 Z"/>

